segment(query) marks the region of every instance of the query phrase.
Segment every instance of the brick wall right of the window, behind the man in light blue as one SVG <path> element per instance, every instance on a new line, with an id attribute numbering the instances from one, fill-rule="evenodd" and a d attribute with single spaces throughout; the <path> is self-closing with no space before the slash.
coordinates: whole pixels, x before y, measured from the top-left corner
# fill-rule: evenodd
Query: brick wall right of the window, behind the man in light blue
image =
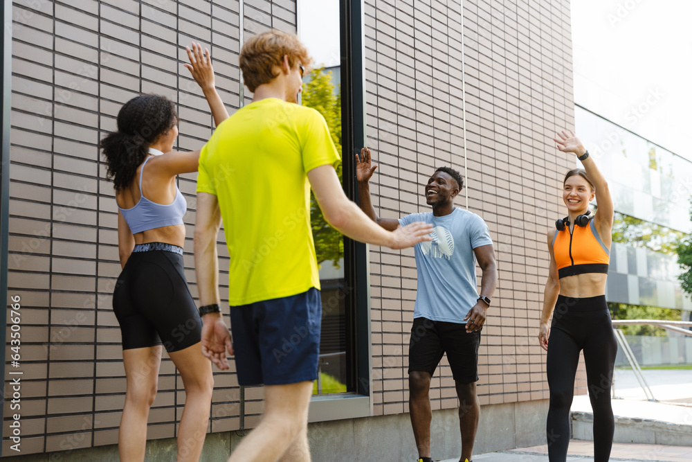
<path id="1" fill-rule="evenodd" d="M 574 126 L 569 1 L 366 0 L 367 136 L 380 167 L 383 217 L 430 211 L 423 187 L 438 166 L 464 173 L 457 205 L 481 215 L 500 280 L 480 349 L 481 404 L 547 398 L 538 318 L 548 252 L 572 159 L 552 136 Z M 375 414 L 408 411 L 408 341 L 416 295 L 412 250 L 370 251 Z M 480 269 L 478 270 L 480 282 Z M 580 383 L 581 386 L 583 384 Z M 457 406 L 446 358 L 432 409 Z"/>

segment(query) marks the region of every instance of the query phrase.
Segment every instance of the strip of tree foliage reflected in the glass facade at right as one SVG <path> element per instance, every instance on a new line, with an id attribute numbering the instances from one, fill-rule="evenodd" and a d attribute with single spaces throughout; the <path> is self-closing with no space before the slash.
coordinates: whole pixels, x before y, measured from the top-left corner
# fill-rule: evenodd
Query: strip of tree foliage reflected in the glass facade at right
<path id="1" fill-rule="evenodd" d="M 677 255 L 677 243 L 686 236 L 681 231 L 619 212 L 615 212 L 612 223 L 612 242 L 644 247 L 671 256 Z"/>

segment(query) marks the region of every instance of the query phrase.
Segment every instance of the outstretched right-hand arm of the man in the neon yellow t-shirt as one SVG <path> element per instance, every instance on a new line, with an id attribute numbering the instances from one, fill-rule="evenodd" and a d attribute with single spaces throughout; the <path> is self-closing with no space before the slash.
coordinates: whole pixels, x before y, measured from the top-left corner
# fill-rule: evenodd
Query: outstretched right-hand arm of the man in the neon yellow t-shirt
<path id="1" fill-rule="evenodd" d="M 432 240 L 429 236 L 432 224 L 411 223 L 393 232 L 377 226 L 346 197 L 333 166 L 313 168 L 307 176 L 325 220 L 345 236 L 391 249 L 404 249 L 424 240 Z"/>

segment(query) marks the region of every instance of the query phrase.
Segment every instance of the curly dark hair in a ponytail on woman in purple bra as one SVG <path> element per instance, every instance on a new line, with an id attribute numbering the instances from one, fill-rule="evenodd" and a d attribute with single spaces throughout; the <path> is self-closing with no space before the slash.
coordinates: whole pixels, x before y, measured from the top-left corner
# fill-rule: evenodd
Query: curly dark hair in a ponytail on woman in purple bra
<path id="1" fill-rule="evenodd" d="M 107 163 L 107 177 L 116 191 L 127 187 L 138 166 L 147 157 L 149 145 L 165 136 L 178 124 L 173 102 L 160 95 L 141 95 L 122 105 L 118 112 L 118 131 L 101 140 Z"/>

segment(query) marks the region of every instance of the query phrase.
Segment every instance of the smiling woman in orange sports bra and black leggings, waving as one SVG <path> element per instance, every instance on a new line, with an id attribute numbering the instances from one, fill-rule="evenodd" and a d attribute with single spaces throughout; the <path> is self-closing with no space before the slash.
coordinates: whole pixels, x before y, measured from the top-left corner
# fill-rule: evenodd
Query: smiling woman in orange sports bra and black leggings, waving
<path id="1" fill-rule="evenodd" d="M 548 231 L 550 269 L 545 283 L 538 340 L 547 350 L 550 389 L 547 416 L 548 458 L 567 459 L 570 443 L 570 407 L 579 352 L 584 352 L 587 383 L 594 410 L 594 462 L 610 459 L 614 418 L 610 385 L 617 353 L 610 312 L 605 303 L 613 205 L 608 183 L 572 132 L 558 133 L 558 150 L 572 152 L 583 169 L 565 175 L 563 201 L 567 217 Z M 589 203 L 597 198 L 598 211 Z M 552 315 L 552 323 L 549 322 Z"/>

